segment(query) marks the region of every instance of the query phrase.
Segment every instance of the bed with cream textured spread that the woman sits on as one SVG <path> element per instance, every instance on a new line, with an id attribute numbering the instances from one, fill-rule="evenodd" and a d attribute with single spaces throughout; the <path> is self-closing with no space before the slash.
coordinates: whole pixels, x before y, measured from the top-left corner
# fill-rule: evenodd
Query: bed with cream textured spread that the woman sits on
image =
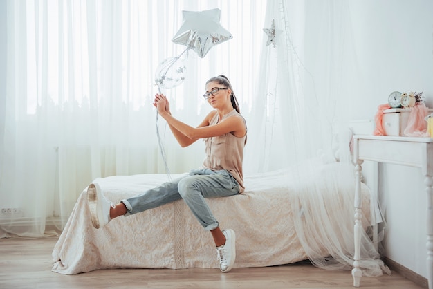
<path id="1" fill-rule="evenodd" d="M 94 180 L 113 203 L 165 181 L 166 174 Z M 328 269 L 351 269 L 355 178 L 350 162 L 317 158 L 296 167 L 244 176 L 244 182 L 243 194 L 208 199 L 221 229 L 236 232 L 234 268 L 310 259 Z M 377 223 L 375 200 L 367 185 L 362 185 L 365 228 Z M 53 249 L 54 272 L 219 267 L 211 234 L 203 230 L 183 201 L 116 218 L 99 230 L 93 228 L 89 216 L 84 189 Z M 377 276 L 384 266 L 370 237 L 366 234 L 362 239 L 362 247 L 367 248 L 362 259 L 367 262 L 361 267 L 365 274 Z"/>

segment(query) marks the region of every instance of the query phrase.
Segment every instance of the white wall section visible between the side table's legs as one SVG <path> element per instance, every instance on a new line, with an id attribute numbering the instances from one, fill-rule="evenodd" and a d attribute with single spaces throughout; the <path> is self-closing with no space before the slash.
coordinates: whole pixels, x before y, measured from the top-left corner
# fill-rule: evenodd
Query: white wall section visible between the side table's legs
<path id="1" fill-rule="evenodd" d="M 427 278 L 427 194 L 421 170 L 379 165 L 380 203 L 385 207 L 385 255 Z"/>

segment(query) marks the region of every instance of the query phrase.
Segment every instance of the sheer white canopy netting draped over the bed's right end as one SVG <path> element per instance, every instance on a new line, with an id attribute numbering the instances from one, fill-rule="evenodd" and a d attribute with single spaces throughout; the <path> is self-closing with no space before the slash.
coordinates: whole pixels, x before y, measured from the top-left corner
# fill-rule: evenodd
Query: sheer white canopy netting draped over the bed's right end
<path id="1" fill-rule="evenodd" d="M 275 47 L 264 46 L 261 54 L 258 119 L 253 122 L 257 131 L 249 135 L 257 154 L 246 160 L 256 171 L 291 167 L 288 193 L 299 193 L 287 205 L 297 236 L 314 265 L 333 270 L 350 270 L 353 264 L 353 211 L 327 209 L 353 206 L 353 165 L 350 156 L 344 156 L 345 162 L 332 164 L 338 170 L 326 169 L 329 158 L 322 158 L 337 145 L 334 135 L 347 121 L 342 115 L 347 115 L 351 84 L 359 76 L 351 13 L 343 0 L 268 1 L 265 23 L 270 27 L 275 22 L 277 36 Z M 349 140 L 345 145 L 349 147 Z M 317 232 L 313 224 L 323 230 Z M 363 274 L 390 273 L 367 234 L 361 243 Z"/>

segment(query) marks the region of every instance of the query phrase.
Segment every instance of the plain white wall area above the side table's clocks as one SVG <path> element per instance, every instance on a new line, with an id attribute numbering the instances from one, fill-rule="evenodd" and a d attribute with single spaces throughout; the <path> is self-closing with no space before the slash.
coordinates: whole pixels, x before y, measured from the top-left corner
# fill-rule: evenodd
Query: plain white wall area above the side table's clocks
<path id="1" fill-rule="evenodd" d="M 370 103 L 391 91 L 423 91 L 433 106 L 433 1 L 352 1 L 352 27 L 361 69 L 360 88 Z"/>

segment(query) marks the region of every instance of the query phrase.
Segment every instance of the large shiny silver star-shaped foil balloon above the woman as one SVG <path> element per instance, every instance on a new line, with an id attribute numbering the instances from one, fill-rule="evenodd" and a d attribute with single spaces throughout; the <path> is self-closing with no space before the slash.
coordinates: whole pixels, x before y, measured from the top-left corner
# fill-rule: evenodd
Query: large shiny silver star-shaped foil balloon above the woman
<path id="1" fill-rule="evenodd" d="M 172 41 L 193 49 L 201 58 L 205 57 L 210 48 L 233 38 L 221 26 L 220 13 L 218 8 L 199 12 L 182 11 L 183 24 Z"/>

